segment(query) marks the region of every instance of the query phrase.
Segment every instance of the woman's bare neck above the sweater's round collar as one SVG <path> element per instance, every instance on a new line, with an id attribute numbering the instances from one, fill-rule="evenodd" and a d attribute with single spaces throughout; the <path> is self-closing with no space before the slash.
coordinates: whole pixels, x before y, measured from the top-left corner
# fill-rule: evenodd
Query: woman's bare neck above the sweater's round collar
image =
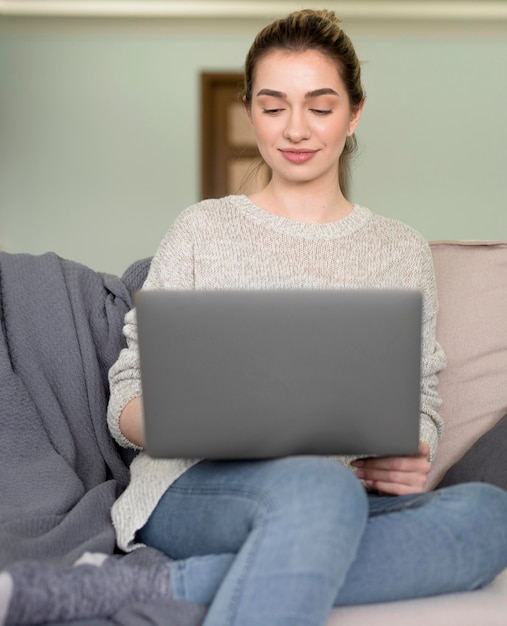
<path id="1" fill-rule="evenodd" d="M 252 194 L 250 199 L 270 213 L 314 224 L 341 220 L 352 211 L 353 206 L 338 184 L 318 189 L 308 185 L 280 185 L 272 180 L 262 191 Z"/>

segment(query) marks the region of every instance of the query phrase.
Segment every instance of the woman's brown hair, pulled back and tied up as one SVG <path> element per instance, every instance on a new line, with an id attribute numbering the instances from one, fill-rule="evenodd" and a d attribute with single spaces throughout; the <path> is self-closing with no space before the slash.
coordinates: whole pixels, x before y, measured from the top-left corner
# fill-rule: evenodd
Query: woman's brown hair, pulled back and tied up
<path id="1" fill-rule="evenodd" d="M 341 29 L 334 11 L 295 11 L 263 28 L 248 51 L 244 68 L 243 102 L 252 101 L 252 84 L 259 61 L 273 50 L 304 52 L 318 50 L 335 63 L 349 97 L 350 107 L 356 112 L 365 99 L 361 83 L 361 65 L 349 37 Z M 350 160 L 357 148 L 355 135 L 347 137 L 338 164 L 340 186 L 347 195 L 350 183 Z"/>

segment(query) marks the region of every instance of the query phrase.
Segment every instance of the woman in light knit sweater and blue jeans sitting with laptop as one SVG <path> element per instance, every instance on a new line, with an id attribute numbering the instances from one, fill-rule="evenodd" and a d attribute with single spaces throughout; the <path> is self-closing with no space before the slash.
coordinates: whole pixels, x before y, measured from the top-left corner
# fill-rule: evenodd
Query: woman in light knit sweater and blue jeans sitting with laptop
<path id="1" fill-rule="evenodd" d="M 243 101 L 269 183 L 184 211 L 145 287 L 420 289 L 419 452 L 348 467 L 345 459 L 221 463 L 141 452 L 113 509 L 119 546 L 144 543 L 175 559 L 173 593 L 210 605 L 206 626 L 316 626 L 333 606 L 480 587 L 507 565 L 507 494 L 473 484 L 424 493 L 442 430 L 436 376 L 445 364 L 431 255 L 411 228 L 346 197 L 364 93 L 334 13 L 299 11 L 264 28 L 246 59 Z M 108 420 L 119 443 L 141 449 L 134 311 L 124 332 Z"/>

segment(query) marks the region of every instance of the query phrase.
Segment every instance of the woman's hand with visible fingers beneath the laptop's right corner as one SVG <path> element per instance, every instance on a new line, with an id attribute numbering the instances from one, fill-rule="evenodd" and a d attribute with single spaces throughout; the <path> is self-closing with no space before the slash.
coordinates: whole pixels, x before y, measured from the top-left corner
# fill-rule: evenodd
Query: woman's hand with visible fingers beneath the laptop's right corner
<path id="1" fill-rule="evenodd" d="M 424 491 L 431 469 L 430 447 L 424 441 L 412 456 L 357 459 L 352 467 L 368 487 L 385 495 L 401 496 Z"/>

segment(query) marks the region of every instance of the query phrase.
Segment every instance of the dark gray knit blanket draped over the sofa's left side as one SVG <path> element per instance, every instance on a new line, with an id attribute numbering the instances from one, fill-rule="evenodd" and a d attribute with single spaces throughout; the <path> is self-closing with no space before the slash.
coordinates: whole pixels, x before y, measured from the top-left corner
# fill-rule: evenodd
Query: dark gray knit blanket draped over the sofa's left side
<path id="1" fill-rule="evenodd" d="M 147 267 L 120 279 L 55 254 L 0 253 L 0 570 L 137 558 L 115 555 L 110 509 L 132 453 L 107 430 L 107 374 Z M 146 564 L 154 551 L 138 552 Z M 167 623 L 163 606 L 141 614 L 124 607 L 114 623 Z"/>

